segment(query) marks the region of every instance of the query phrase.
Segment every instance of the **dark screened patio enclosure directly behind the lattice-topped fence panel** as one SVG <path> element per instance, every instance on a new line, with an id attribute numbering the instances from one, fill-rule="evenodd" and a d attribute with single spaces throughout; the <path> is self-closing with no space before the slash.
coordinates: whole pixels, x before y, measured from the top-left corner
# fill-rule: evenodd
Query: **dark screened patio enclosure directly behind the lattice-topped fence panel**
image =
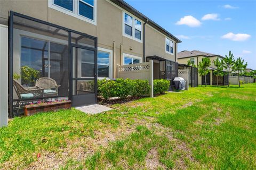
<path id="1" fill-rule="evenodd" d="M 173 80 L 178 77 L 178 63 L 158 56 L 148 56 L 147 62 L 153 60 L 153 78 L 170 80 L 170 88 L 174 87 Z"/>

